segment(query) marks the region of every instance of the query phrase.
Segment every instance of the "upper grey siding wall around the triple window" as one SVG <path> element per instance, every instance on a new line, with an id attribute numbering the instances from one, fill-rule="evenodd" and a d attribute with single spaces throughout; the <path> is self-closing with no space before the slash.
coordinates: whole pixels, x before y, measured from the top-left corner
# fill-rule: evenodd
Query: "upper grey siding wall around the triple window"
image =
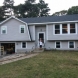
<path id="1" fill-rule="evenodd" d="M 47 40 L 78 40 L 78 23 L 77 23 L 77 34 L 54 34 L 54 26 L 47 25 Z M 70 30 L 68 30 L 70 31 Z"/>

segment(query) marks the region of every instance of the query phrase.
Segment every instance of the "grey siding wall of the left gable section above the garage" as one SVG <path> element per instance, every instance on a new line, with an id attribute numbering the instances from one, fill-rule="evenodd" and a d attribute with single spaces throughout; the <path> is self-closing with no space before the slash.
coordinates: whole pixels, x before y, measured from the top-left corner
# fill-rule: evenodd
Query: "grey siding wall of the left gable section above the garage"
<path id="1" fill-rule="evenodd" d="M 25 25 L 15 19 L 10 19 L 5 22 L 1 26 L 7 26 L 7 34 L 1 34 L 1 26 L 0 26 L 0 41 L 29 41 L 29 33 L 27 29 L 27 25 L 25 25 L 26 32 L 20 33 L 20 25 Z"/>

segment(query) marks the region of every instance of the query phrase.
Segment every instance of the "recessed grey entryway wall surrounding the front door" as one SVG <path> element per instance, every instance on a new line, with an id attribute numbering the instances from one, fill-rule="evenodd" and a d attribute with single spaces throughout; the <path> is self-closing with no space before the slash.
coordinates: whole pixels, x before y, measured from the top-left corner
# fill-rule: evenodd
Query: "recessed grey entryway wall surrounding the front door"
<path id="1" fill-rule="evenodd" d="M 39 48 L 39 39 L 38 39 L 38 33 L 39 32 L 44 32 L 44 34 L 45 34 L 45 43 L 46 43 L 46 26 L 36 26 L 35 27 L 35 47 L 36 48 Z M 45 44 L 44 43 L 44 44 Z"/>

